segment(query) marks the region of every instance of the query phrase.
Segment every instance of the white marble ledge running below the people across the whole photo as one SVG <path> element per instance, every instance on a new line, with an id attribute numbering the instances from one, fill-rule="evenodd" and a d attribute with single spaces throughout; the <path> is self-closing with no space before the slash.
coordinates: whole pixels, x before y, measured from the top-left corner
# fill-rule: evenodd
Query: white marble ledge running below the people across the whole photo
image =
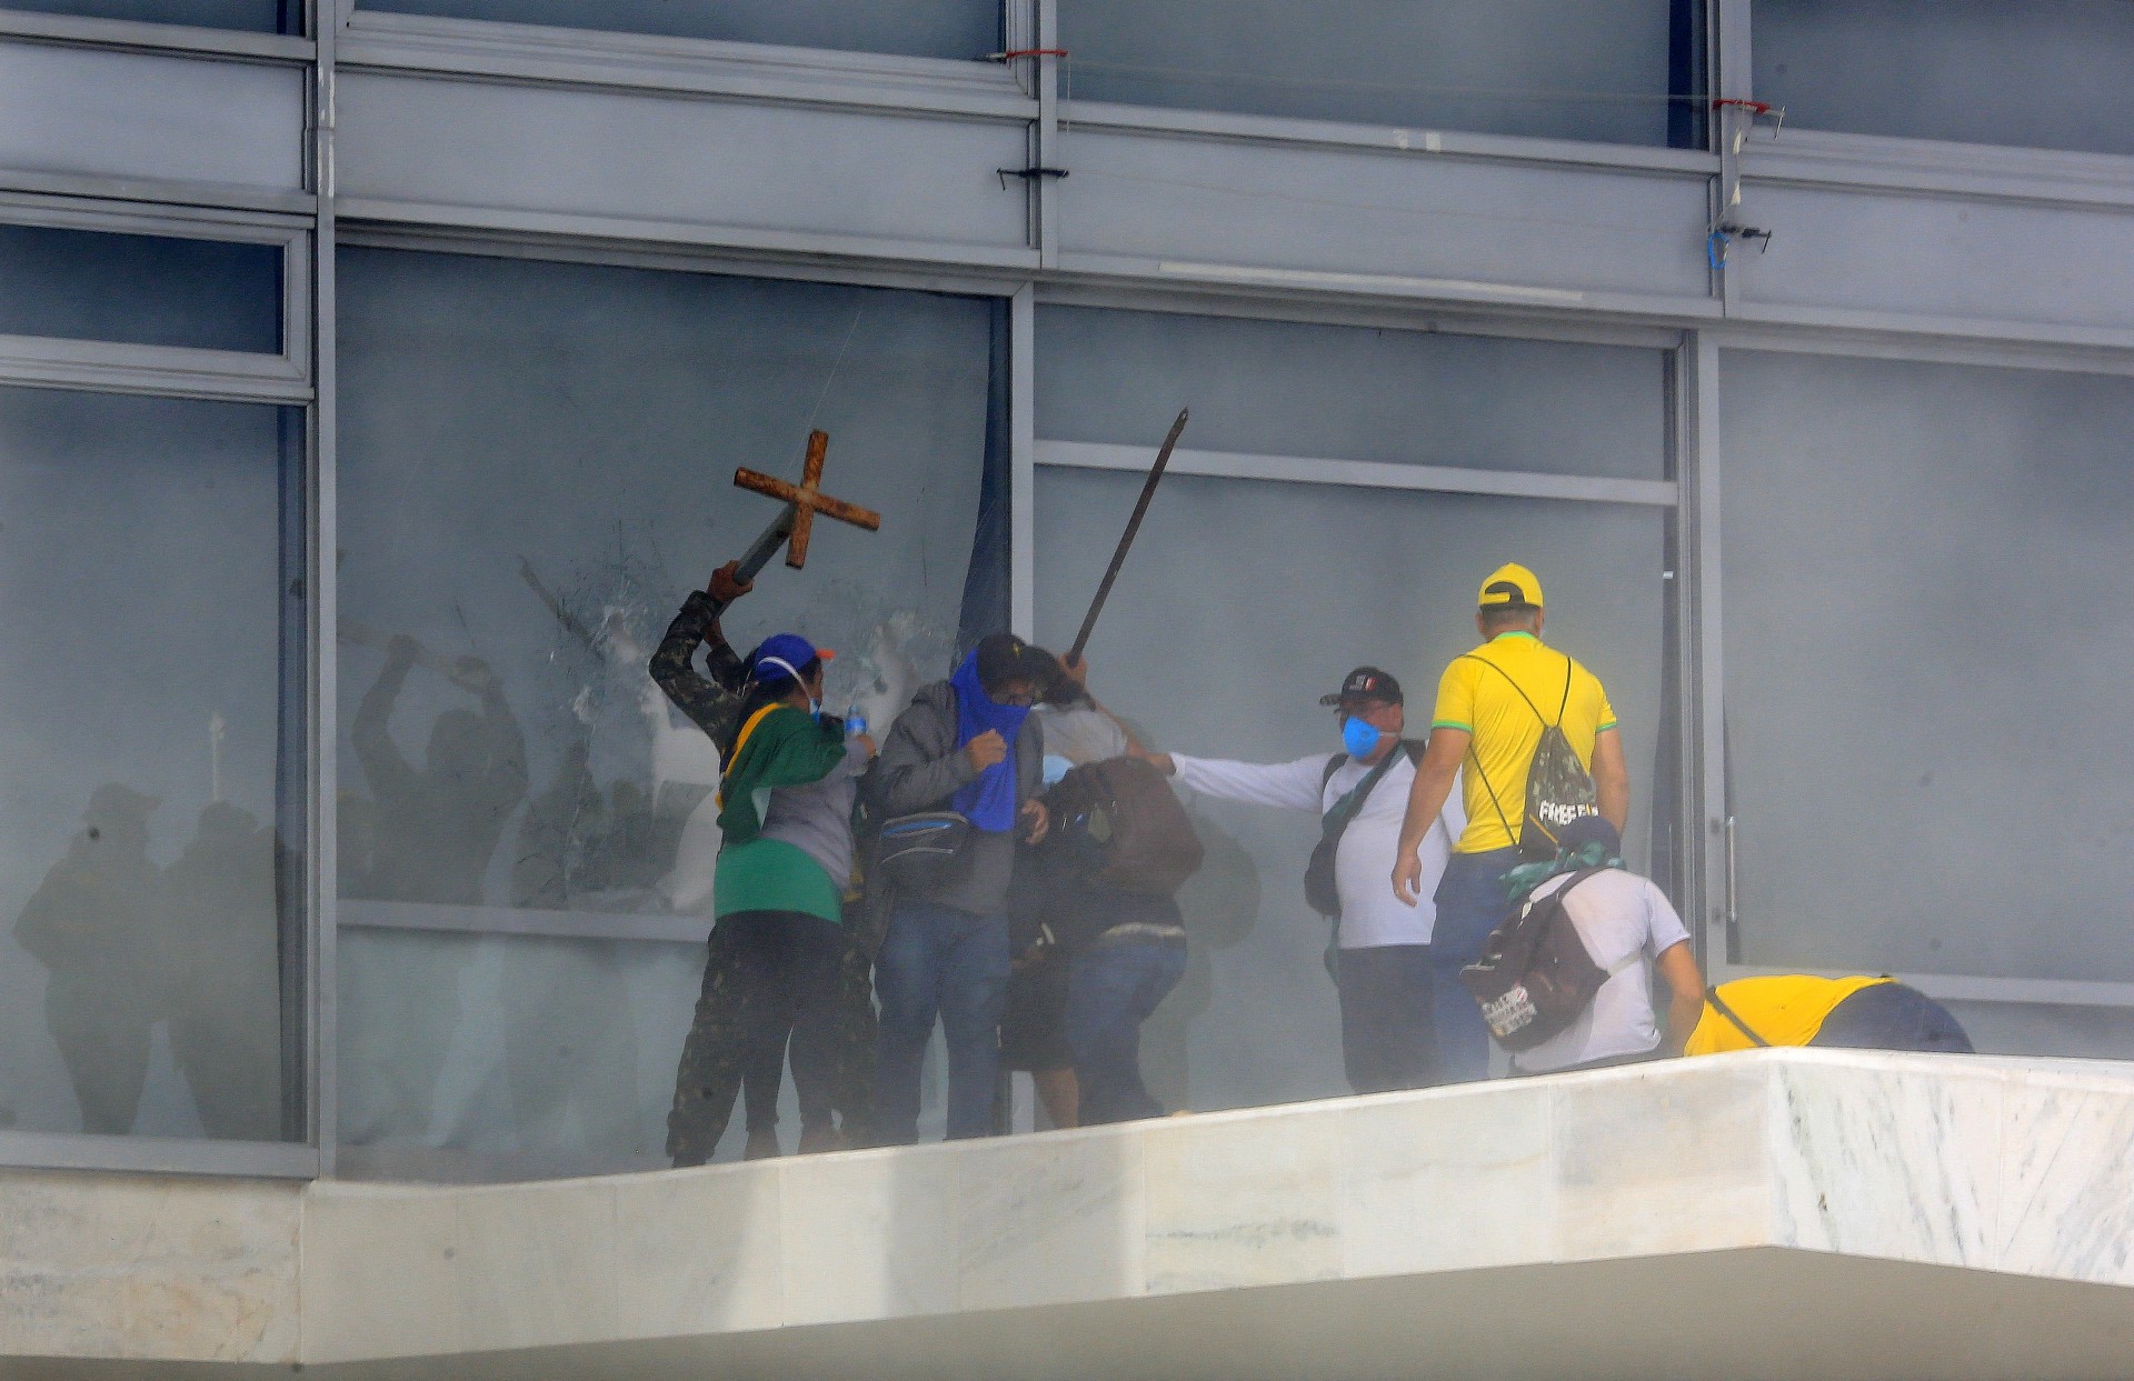
<path id="1" fill-rule="evenodd" d="M 120 1332 L 109 1298 L 38 1285 L 83 1257 L 124 1276 L 100 1219 L 6 1212 L 0 1355 L 363 1364 L 1771 1251 L 2130 1287 L 2130 1140 L 2125 1065 L 1758 1050 L 687 1172 L 318 1182 L 280 1189 L 301 1272 L 294 1247 L 156 1257 L 252 1313 L 139 1289 Z M 0 1174 L 0 1210 L 34 1180 Z M 122 1219 L 158 1193 L 73 1182 Z"/>

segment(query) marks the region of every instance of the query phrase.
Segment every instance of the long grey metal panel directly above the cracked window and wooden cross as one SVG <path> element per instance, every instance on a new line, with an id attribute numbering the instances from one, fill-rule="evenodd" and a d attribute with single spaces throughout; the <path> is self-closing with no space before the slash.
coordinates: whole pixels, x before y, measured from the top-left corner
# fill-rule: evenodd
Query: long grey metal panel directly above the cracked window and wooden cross
<path id="1" fill-rule="evenodd" d="M 1024 248 L 1024 122 L 341 73 L 339 192 Z"/>

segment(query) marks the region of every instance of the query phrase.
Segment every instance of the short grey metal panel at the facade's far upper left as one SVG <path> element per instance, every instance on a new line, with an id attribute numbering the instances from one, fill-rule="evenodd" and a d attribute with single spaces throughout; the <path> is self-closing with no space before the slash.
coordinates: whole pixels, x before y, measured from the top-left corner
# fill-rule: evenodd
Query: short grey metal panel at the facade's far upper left
<path id="1" fill-rule="evenodd" d="M 303 190 L 301 66 L 0 41 L 0 169 Z"/>

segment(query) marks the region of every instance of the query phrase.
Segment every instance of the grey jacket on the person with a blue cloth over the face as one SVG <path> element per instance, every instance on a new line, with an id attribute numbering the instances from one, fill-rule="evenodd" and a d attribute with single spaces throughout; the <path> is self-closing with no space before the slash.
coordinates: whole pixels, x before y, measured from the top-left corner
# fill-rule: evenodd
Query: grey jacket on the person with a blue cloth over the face
<path id="1" fill-rule="evenodd" d="M 1046 730 L 1037 715 L 1022 721 L 1016 734 L 1016 807 L 1037 796 L 1046 781 Z M 977 773 L 956 747 L 956 692 L 947 681 L 935 681 L 911 696 L 909 709 L 896 715 L 890 736 L 875 758 L 873 788 L 886 815 L 913 811 L 945 811 L 947 798 Z M 971 830 L 956 877 L 924 901 L 937 901 L 973 916 L 1001 916 L 1007 909 L 1007 879 L 1016 871 L 1016 835 Z"/>

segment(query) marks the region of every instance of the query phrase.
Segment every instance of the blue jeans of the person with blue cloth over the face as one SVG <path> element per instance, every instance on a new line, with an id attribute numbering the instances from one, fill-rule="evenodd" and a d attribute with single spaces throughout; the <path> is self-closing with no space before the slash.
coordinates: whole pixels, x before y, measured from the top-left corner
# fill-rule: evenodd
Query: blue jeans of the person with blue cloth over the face
<path id="1" fill-rule="evenodd" d="M 875 1114 L 883 1146 L 920 1140 L 920 1065 L 935 1018 L 947 1037 L 947 1136 L 992 1133 L 992 1078 L 1007 1007 L 1007 918 L 898 901 L 875 956 L 881 1027 Z"/>

